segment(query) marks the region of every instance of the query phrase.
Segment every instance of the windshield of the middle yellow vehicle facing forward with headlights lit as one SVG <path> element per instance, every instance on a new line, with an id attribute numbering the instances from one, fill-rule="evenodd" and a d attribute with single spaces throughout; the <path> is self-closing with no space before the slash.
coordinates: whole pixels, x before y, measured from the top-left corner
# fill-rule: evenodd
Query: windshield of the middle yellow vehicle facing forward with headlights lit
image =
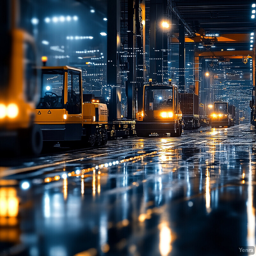
<path id="1" fill-rule="evenodd" d="M 159 90 L 152 87 L 145 89 L 145 112 L 151 110 L 172 110 L 172 87 Z"/>

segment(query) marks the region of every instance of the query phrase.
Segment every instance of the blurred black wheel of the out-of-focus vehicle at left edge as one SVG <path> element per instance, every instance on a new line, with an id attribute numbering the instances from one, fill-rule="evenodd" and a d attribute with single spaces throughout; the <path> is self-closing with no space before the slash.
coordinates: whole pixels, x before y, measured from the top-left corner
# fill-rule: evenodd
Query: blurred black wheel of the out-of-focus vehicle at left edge
<path id="1" fill-rule="evenodd" d="M 43 149 L 43 133 L 39 125 L 34 124 L 29 130 L 20 134 L 21 154 L 38 156 Z"/>

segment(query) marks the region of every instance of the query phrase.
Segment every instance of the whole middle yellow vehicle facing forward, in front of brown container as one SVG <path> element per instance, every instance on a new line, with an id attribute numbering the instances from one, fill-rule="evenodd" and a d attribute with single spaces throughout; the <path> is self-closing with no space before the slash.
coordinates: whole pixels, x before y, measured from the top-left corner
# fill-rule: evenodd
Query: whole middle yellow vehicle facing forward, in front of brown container
<path id="1" fill-rule="evenodd" d="M 167 134 L 178 137 L 182 128 L 178 87 L 172 84 L 144 85 L 143 107 L 136 121 L 137 135 Z"/>

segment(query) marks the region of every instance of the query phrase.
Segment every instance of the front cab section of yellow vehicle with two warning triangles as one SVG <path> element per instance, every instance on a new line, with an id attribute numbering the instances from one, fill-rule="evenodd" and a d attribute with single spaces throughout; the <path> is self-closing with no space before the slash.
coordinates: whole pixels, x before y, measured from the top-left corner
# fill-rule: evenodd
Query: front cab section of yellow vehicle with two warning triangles
<path id="1" fill-rule="evenodd" d="M 82 72 L 69 66 L 42 67 L 42 89 L 36 108 L 44 140 L 81 140 Z"/>

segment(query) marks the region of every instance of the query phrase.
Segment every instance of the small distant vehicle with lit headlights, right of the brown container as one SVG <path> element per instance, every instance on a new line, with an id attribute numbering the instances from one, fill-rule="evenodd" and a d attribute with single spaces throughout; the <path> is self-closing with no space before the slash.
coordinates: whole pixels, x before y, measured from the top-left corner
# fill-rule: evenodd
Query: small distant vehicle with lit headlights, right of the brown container
<path id="1" fill-rule="evenodd" d="M 214 102 L 211 114 L 212 127 L 231 126 L 231 115 L 228 109 L 228 102 Z"/>

